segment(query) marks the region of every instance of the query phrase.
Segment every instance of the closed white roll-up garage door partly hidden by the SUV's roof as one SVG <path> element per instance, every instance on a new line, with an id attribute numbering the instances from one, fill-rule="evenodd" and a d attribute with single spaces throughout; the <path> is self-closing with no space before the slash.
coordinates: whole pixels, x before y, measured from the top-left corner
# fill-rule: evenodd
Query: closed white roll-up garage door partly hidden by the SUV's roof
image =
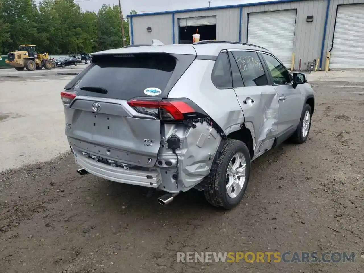
<path id="1" fill-rule="evenodd" d="M 248 43 L 264 47 L 291 68 L 296 9 L 249 13 Z"/>

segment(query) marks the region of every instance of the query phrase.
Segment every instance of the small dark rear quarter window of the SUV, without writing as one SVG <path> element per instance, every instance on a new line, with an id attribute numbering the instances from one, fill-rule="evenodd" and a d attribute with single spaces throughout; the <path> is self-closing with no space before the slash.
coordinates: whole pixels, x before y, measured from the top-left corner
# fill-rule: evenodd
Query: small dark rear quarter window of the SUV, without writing
<path id="1" fill-rule="evenodd" d="M 233 88 L 227 53 L 221 52 L 215 61 L 211 81 L 217 88 Z"/>

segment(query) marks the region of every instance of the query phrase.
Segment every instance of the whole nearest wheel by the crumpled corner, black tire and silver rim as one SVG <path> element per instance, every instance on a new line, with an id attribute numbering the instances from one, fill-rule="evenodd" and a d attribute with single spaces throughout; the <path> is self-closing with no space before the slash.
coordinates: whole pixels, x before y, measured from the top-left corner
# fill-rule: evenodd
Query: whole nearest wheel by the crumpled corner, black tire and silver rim
<path id="1" fill-rule="evenodd" d="M 222 155 L 211 166 L 205 190 L 207 202 L 216 207 L 232 209 L 244 197 L 250 175 L 250 154 L 244 142 L 227 139 Z"/>

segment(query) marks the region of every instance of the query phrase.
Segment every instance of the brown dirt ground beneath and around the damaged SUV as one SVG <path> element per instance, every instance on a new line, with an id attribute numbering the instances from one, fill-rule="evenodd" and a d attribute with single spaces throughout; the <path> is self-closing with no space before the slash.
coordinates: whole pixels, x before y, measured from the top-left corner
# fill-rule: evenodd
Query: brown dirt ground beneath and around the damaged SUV
<path id="1" fill-rule="evenodd" d="M 70 153 L 0 174 L 0 272 L 364 272 L 364 83 L 312 82 L 303 145 L 252 163 L 241 204 L 80 177 Z M 355 252 L 340 263 L 177 263 L 177 252 Z"/>

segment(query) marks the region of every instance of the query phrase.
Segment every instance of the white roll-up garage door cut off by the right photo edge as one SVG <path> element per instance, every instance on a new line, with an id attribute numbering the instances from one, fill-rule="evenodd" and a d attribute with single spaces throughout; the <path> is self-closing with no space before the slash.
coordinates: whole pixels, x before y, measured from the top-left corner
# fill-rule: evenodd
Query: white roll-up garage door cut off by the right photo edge
<path id="1" fill-rule="evenodd" d="M 363 50 L 364 4 L 338 6 L 329 69 L 364 69 Z"/>

